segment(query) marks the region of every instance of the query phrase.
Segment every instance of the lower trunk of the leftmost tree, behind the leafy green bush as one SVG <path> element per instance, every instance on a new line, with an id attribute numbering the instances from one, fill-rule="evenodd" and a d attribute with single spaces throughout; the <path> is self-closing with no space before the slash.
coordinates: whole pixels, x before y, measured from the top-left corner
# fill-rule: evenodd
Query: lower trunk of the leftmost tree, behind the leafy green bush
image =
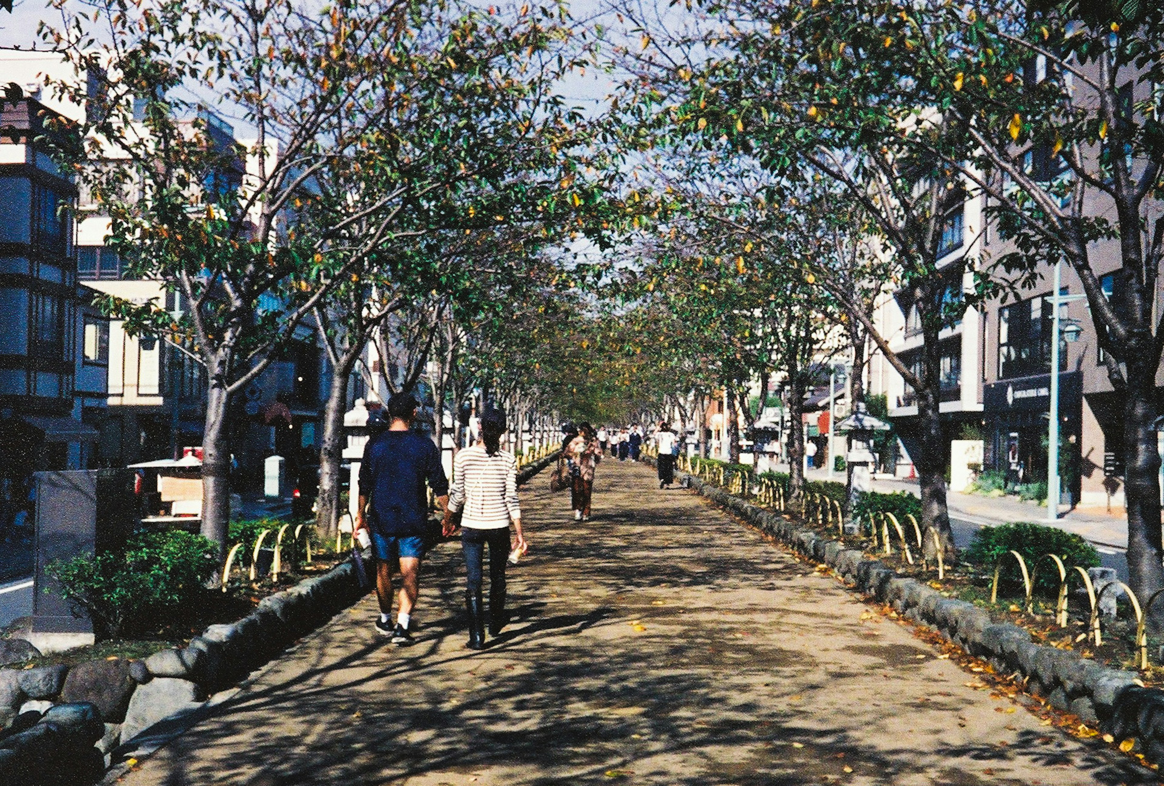
<path id="1" fill-rule="evenodd" d="M 201 534 L 218 545 L 219 562 L 226 558 L 230 527 L 230 394 L 226 388 L 226 358 L 212 360 L 206 391 L 203 430 L 203 523 Z"/>

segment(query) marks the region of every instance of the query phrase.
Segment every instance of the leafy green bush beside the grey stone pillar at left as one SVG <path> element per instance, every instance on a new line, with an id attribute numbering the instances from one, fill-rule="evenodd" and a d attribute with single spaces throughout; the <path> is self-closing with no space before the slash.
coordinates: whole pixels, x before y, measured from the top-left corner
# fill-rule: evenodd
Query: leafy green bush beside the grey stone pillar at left
<path id="1" fill-rule="evenodd" d="M 165 627 L 201 606 L 218 567 L 215 551 L 184 530 L 139 533 L 125 552 L 56 560 L 48 572 L 102 638 L 122 637 Z"/>

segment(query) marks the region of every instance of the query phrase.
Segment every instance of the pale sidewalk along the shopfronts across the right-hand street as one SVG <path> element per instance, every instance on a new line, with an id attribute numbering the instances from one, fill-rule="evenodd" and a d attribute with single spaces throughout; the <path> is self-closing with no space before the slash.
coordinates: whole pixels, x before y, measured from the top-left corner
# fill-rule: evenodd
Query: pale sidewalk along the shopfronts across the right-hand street
<path id="1" fill-rule="evenodd" d="M 828 480 L 829 471 L 825 469 L 814 469 L 809 470 L 804 477 L 809 480 Z M 836 472 L 832 479 L 844 483 L 845 476 L 842 472 Z M 886 493 L 906 492 L 914 496 L 921 496 L 916 480 L 875 479 L 873 480 L 873 491 Z M 1013 521 L 1030 521 L 1038 524 L 1049 523 L 1045 507 L 1034 502 L 1021 502 L 1017 498 L 1013 496 L 984 496 L 981 494 L 947 492 L 946 505 L 950 507 L 951 517 L 957 517 L 972 524 L 993 527 Z M 1059 513 L 1057 526 L 1069 533 L 1076 533 L 1096 545 L 1106 545 L 1113 549 L 1128 548 L 1128 521 L 1123 516 L 1071 510 Z"/>

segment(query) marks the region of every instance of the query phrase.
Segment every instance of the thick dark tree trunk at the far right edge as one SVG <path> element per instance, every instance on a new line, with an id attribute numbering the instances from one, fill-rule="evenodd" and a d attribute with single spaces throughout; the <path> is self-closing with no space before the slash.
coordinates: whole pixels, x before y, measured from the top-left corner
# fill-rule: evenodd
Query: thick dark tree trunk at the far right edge
<path id="1" fill-rule="evenodd" d="M 1154 402 L 1154 369 L 1147 363 L 1130 362 L 1128 353 L 1128 387 L 1123 405 L 1123 493 L 1128 509 L 1128 584 L 1148 602 L 1164 588 L 1164 567 L 1161 545 L 1159 453 L 1156 448 L 1156 419 Z M 1049 492 L 1050 493 L 1050 492 Z M 1049 501 L 1050 502 L 1050 501 Z M 1152 628 L 1164 627 L 1164 607 L 1152 603 Z"/>

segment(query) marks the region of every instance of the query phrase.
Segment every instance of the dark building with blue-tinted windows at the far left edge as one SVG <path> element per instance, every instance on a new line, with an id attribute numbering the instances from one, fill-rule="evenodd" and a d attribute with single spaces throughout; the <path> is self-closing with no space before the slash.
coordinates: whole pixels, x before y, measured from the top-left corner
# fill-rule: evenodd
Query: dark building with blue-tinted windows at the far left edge
<path id="1" fill-rule="evenodd" d="M 90 465 L 105 380 L 84 363 L 77 188 L 45 147 L 68 133 L 64 117 L 24 98 L 2 102 L 0 128 L 0 421 L 5 478 L 17 480 Z"/>

